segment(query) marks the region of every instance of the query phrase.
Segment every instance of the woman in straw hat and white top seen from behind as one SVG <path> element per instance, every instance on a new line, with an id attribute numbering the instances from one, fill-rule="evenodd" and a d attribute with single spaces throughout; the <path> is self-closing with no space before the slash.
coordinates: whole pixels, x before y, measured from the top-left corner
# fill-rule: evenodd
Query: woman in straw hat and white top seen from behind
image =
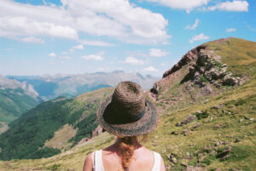
<path id="1" fill-rule="evenodd" d="M 143 147 L 138 135 L 148 134 L 157 124 L 157 114 L 137 83 L 122 82 L 112 96 L 102 102 L 97 111 L 102 128 L 117 135 L 113 145 L 90 153 L 84 171 L 163 171 L 162 157 Z"/>

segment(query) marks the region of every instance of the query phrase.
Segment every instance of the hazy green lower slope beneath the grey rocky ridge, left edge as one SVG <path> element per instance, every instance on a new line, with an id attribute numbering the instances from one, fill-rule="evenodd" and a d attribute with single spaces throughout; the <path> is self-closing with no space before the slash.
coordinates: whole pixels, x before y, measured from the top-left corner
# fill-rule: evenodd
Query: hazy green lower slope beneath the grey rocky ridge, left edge
<path id="1" fill-rule="evenodd" d="M 0 122 L 9 123 L 38 104 L 38 100 L 24 94 L 21 88 L 0 89 Z"/>

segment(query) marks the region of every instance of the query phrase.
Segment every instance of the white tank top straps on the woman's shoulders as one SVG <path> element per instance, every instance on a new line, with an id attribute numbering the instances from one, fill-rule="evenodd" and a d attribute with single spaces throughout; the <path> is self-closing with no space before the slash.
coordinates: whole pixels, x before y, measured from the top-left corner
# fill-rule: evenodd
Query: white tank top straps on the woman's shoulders
<path id="1" fill-rule="evenodd" d="M 152 171 L 160 171 L 160 154 L 154 152 L 154 166 Z M 94 171 L 104 171 L 103 162 L 102 162 L 102 150 L 94 151 L 92 153 L 92 167 Z"/>

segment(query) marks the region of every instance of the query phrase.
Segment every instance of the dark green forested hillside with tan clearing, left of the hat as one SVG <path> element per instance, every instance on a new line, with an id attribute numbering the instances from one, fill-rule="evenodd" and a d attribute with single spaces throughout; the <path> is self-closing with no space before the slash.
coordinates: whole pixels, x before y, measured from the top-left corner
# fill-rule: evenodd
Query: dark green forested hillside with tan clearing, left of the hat
<path id="1" fill-rule="evenodd" d="M 99 89 L 75 99 L 44 102 L 9 124 L 0 135 L 0 158 L 50 157 L 66 151 L 96 129 L 96 108 L 113 88 Z"/>

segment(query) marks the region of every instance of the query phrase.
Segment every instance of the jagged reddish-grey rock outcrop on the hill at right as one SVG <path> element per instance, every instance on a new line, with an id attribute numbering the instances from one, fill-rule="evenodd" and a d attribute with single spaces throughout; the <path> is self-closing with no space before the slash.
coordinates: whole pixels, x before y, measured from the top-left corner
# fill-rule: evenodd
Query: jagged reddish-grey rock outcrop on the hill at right
<path id="1" fill-rule="evenodd" d="M 170 86 L 172 82 L 184 83 L 190 81 L 200 88 L 204 88 L 210 83 L 212 86 L 219 88 L 225 85 L 241 85 L 247 81 L 247 76 L 234 77 L 227 69 L 228 66 L 221 63 L 221 56 L 201 45 L 183 55 L 182 60 L 177 62 L 172 69 L 166 71 L 160 81 L 154 83 L 150 92 L 154 97 L 157 97 L 164 93 L 163 87 L 166 85 L 166 87 L 172 87 Z M 180 77 L 183 77 L 183 79 L 180 80 Z M 201 93 L 211 94 L 212 88 L 207 86 L 207 88 L 201 90 Z"/>

